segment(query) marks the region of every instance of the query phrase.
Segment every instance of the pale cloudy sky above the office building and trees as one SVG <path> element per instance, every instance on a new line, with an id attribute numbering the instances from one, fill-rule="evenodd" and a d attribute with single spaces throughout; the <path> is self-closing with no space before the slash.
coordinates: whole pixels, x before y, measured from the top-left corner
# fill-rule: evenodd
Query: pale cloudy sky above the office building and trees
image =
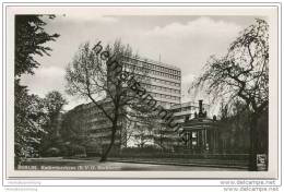
<path id="1" fill-rule="evenodd" d="M 50 56 L 36 57 L 40 67 L 34 75 L 23 75 L 22 84 L 31 93 L 44 97 L 59 91 L 69 104 L 69 110 L 85 103 L 66 93 L 64 70 L 82 43 L 102 40 L 106 45 L 121 39 L 142 57 L 176 65 L 181 69 L 182 101 L 200 98 L 188 94 L 188 87 L 202 72 L 210 56 L 223 56 L 238 34 L 253 23 L 252 16 L 209 15 L 104 15 L 67 11 L 55 20 L 45 20 L 46 32 L 60 37 L 47 46 Z M 205 96 L 202 96 L 206 101 Z"/>

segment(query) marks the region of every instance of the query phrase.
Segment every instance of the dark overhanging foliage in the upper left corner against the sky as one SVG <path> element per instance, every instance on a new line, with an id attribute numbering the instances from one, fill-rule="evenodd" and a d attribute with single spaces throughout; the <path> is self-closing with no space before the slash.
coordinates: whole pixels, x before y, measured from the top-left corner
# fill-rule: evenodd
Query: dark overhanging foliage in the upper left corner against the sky
<path id="1" fill-rule="evenodd" d="M 49 15 L 49 19 L 54 17 Z M 42 15 L 15 15 L 15 76 L 34 74 L 34 68 L 39 65 L 35 55 L 49 56 L 51 48 L 45 44 L 56 40 L 59 35 L 46 33 L 45 25 Z"/>

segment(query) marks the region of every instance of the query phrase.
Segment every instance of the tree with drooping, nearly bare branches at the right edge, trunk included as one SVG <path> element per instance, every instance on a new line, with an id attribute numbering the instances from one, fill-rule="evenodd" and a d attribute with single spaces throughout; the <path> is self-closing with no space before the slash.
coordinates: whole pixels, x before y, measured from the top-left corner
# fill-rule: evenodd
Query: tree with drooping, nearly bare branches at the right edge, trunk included
<path id="1" fill-rule="evenodd" d="M 269 105 L 269 25 L 263 20 L 241 32 L 230 44 L 225 57 L 211 57 L 204 73 L 191 88 L 202 87 L 214 100 L 228 105 L 242 100 L 250 115 L 250 170 L 257 170 L 256 155 L 261 151 L 258 120 Z"/>

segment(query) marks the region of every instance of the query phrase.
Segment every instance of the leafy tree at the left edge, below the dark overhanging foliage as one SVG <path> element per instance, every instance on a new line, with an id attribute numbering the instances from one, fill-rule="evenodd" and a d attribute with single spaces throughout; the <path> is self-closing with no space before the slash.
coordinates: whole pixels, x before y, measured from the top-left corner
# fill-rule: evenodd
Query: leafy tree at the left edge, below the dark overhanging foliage
<path id="1" fill-rule="evenodd" d="M 14 116 L 14 153 L 15 166 L 26 157 L 38 156 L 40 136 L 45 134 L 43 124 L 47 123 L 43 99 L 28 95 L 26 87 L 15 84 L 15 116 Z"/>

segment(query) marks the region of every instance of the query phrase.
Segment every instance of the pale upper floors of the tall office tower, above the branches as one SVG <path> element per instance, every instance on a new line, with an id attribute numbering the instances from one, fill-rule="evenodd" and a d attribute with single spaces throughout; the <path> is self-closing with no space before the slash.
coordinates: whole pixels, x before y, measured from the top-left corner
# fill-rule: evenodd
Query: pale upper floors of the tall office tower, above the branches
<path id="1" fill-rule="evenodd" d="M 129 58 L 123 67 L 132 70 L 135 75 L 146 75 L 144 79 L 141 77 L 141 84 L 157 105 L 169 109 L 170 106 L 180 104 L 181 71 L 179 68 L 143 58 Z"/>

